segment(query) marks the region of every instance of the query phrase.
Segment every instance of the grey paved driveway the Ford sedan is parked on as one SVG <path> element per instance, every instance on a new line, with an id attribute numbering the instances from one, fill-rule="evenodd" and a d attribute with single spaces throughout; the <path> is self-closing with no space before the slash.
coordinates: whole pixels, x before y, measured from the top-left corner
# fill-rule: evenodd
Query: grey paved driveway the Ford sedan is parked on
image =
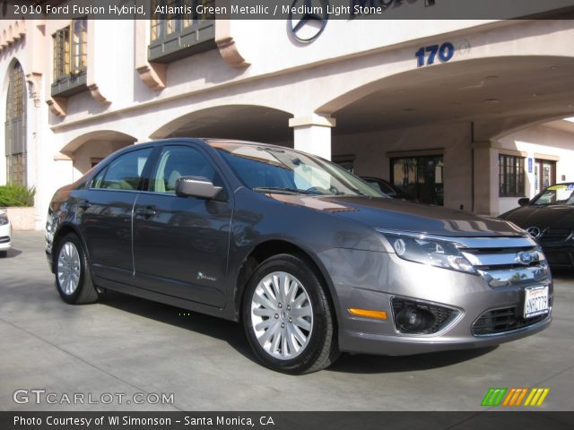
<path id="1" fill-rule="evenodd" d="M 552 326 L 525 340 L 344 355 L 294 377 L 259 366 L 236 323 L 116 293 L 65 305 L 43 233 L 13 243 L 0 259 L 0 410 L 479 410 L 491 387 L 547 387 L 541 409 L 574 409 L 572 274 L 556 280 Z"/>

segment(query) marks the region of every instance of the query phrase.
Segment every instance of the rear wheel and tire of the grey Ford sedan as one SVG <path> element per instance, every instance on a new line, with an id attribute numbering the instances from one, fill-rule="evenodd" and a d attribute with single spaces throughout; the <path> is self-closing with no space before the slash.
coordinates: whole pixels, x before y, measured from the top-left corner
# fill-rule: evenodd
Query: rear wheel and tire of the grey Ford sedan
<path id="1" fill-rule="evenodd" d="M 58 242 L 55 271 L 57 292 L 66 303 L 86 305 L 98 301 L 82 242 L 73 233 Z"/>

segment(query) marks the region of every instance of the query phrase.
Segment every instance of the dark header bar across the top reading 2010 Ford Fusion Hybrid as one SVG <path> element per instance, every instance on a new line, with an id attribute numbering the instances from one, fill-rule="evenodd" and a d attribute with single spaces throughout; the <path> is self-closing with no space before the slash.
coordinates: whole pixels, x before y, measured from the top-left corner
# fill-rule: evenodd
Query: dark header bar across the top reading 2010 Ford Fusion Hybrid
<path id="1" fill-rule="evenodd" d="M 160 5 L 154 5 L 160 4 Z M 164 5 L 161 5 L 164 4 Z M 171 5 L 165 5 L 171 4 Z M 174 5 L 176 4 L 176 5 Z M 574 19 L 574 0 L 3 0 L 0 19 L 231 20 Z"/>

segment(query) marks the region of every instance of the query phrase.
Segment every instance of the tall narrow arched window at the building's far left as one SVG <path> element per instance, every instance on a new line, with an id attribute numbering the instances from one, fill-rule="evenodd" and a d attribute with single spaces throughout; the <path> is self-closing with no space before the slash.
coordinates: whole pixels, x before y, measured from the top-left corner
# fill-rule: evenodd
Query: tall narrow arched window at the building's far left
<path id="1" fill-rule="evenodd" d="M 18 62 L 9 73 L 4 125 L 7 183 L 26 186 L 26 81 Z"/>

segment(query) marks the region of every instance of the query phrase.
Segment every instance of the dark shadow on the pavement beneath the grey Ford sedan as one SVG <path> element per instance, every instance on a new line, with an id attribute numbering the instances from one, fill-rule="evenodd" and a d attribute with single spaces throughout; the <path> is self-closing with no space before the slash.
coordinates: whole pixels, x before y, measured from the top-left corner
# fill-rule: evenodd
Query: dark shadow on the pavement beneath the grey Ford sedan
<path id="1" fill-rule="evenodd" d="M 238 323 L 222 320 L 209 315 L 163 305 L 139 297 L 131 297 L 114 291 L 106 292 L 100 303 L 116 309 L 150 318 L 160 323 L 168 323 L 179 328 L 224 340 L 239 354 L 253 362 L 257 358 L 251 352 L 243 328 Z M 437 352 L 409 357 L 386 357 L 343 354 L 327 371 L 349 374 L 385 374 L 413 372 L 451 366 L 460 362 L 483 356 L 497 347 L 465 349 L 459 351 Z"/>

